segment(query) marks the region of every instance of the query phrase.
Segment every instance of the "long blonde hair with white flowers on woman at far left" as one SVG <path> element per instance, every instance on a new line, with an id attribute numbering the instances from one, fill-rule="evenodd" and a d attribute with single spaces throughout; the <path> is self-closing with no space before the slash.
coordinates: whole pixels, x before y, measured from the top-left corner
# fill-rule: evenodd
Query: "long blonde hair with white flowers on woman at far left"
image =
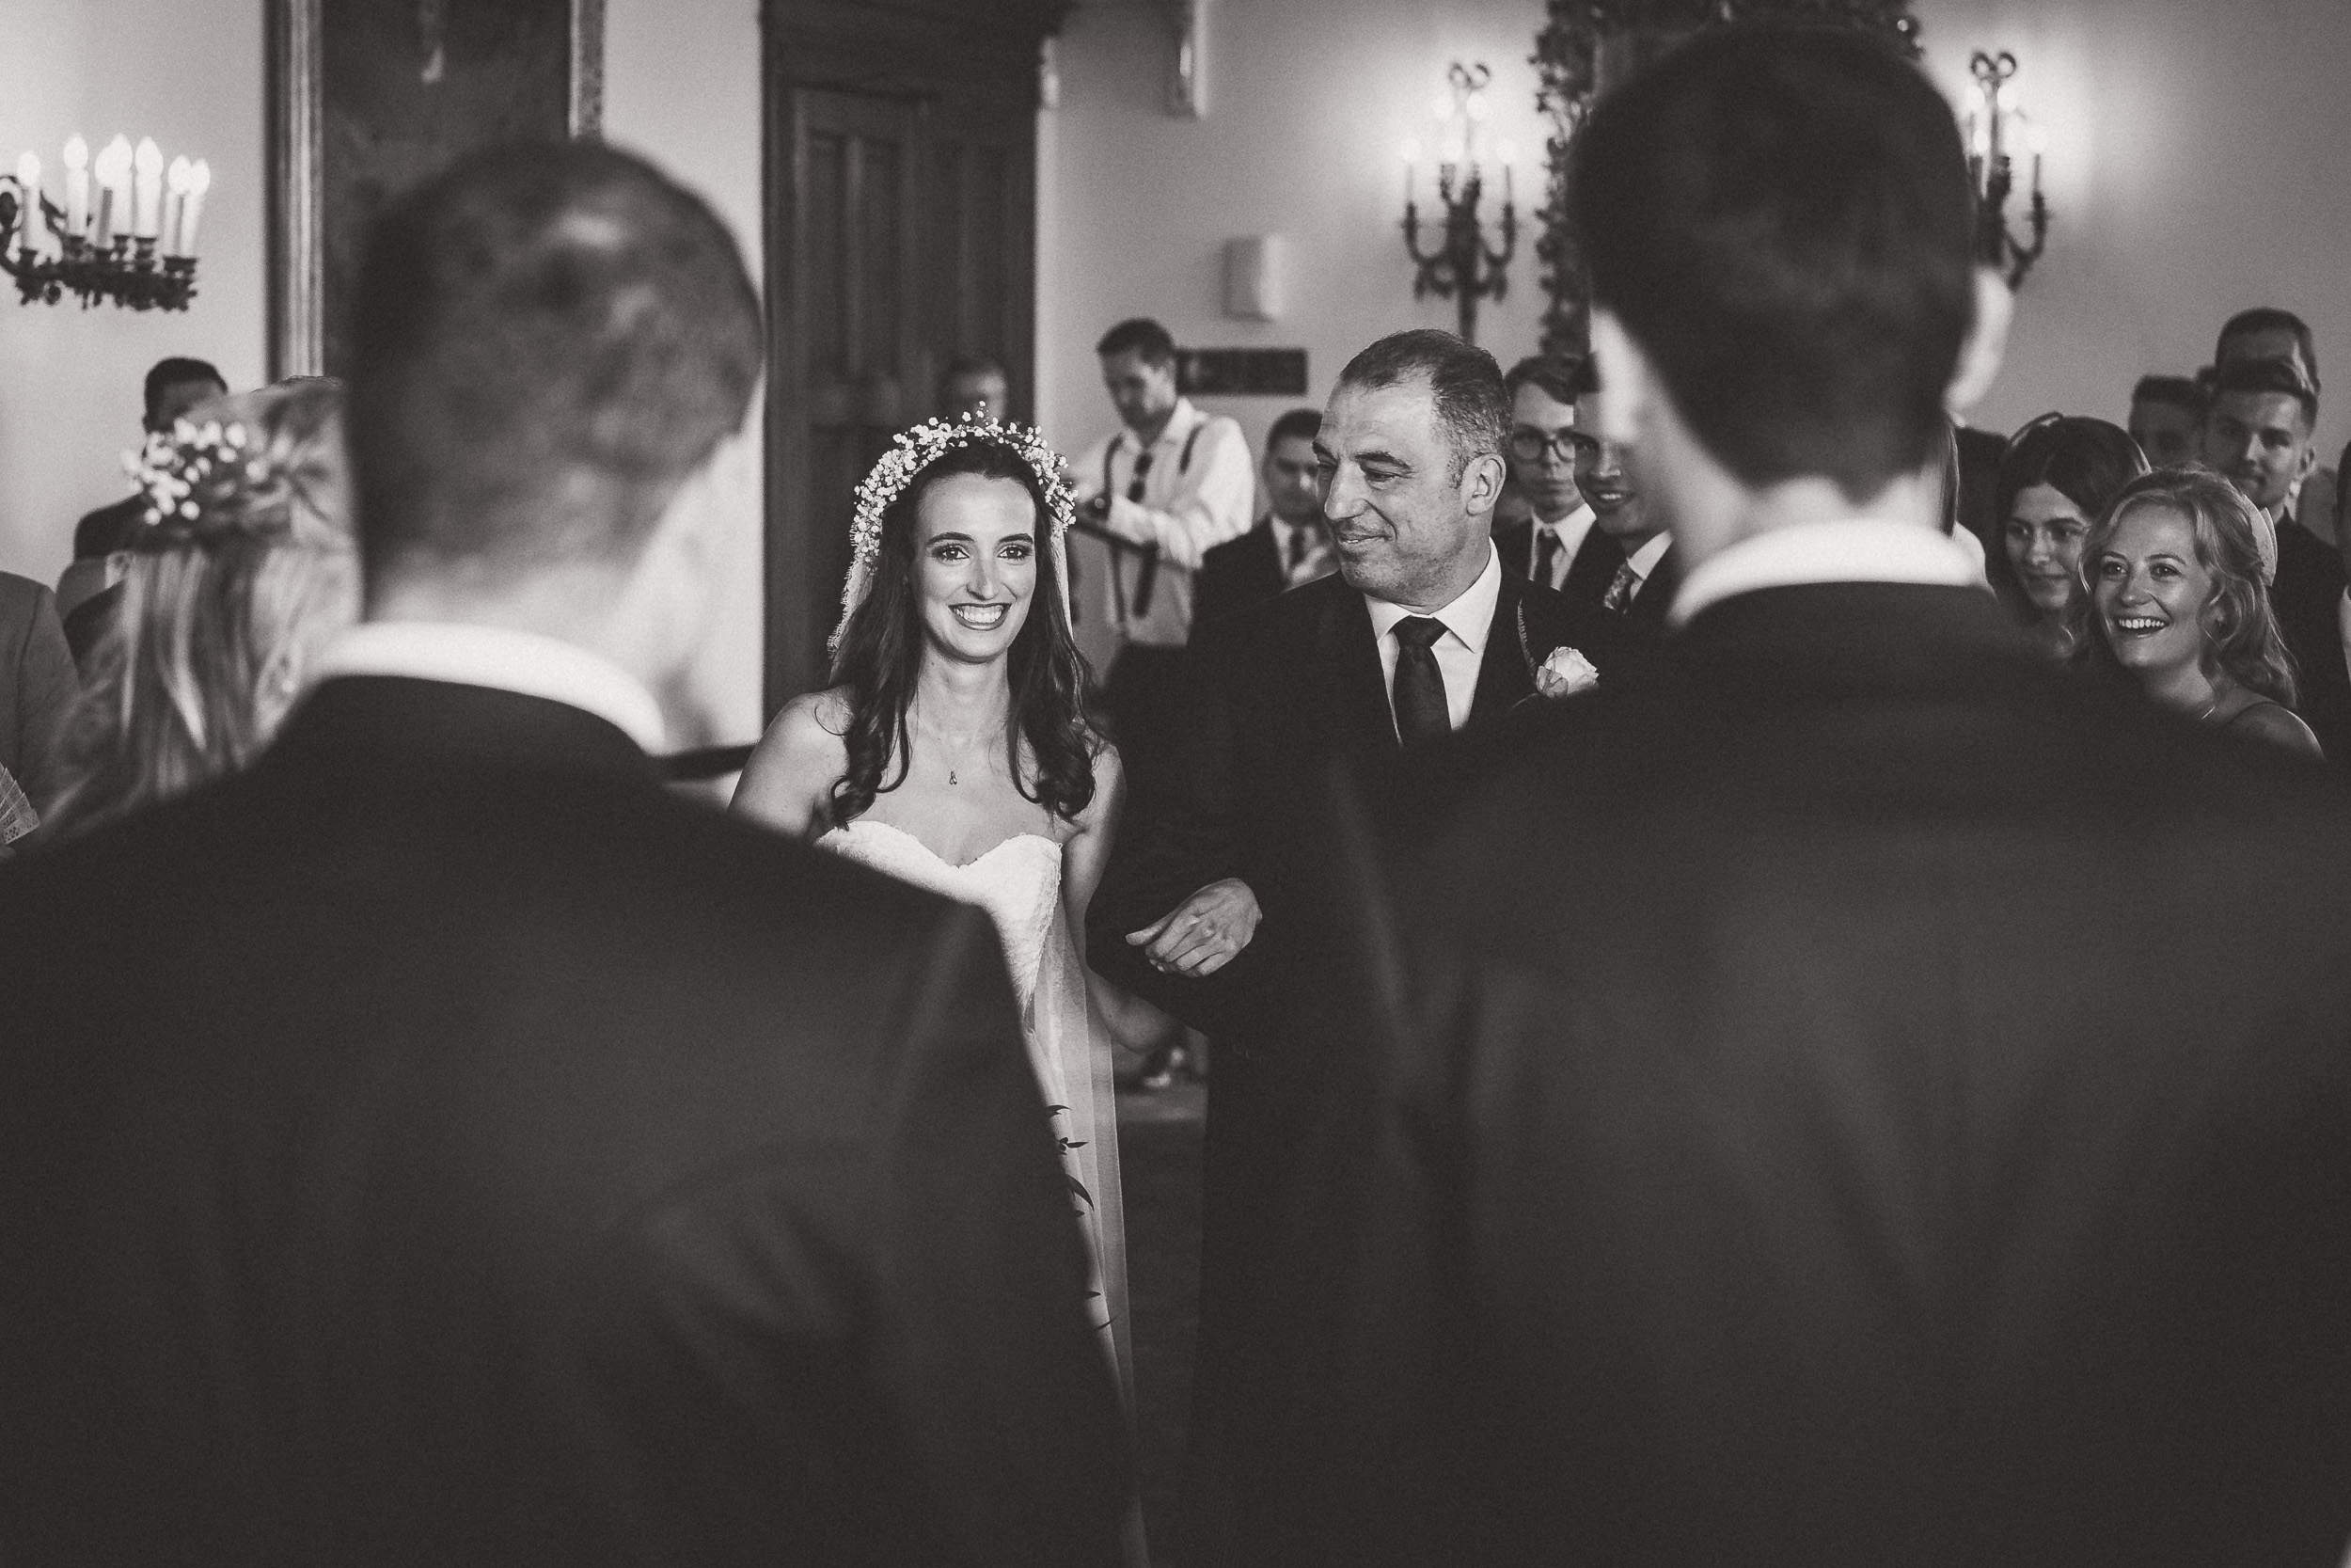
<path id="1" fill-rule="evenodd" d="M 139 461 L 148 508 L 68 733 L 42 837 L 233 773 L 275 733 L 313 654 L 357 614 L 343 386 L 216 397 Z"/>

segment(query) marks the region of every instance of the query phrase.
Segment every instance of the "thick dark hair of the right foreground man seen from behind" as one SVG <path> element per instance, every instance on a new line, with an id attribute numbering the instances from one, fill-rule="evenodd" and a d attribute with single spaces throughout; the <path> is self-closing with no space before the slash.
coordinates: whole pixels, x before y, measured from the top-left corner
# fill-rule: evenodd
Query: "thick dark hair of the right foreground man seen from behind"
<path id="1" fill-rule="evenodd" d="M 1942 94 L 1876 38 L 1700 33 L 1575 141 L 1592 299 L 1742 484 L 1862 503 L 1949 440 L 1975 197 Z"/>

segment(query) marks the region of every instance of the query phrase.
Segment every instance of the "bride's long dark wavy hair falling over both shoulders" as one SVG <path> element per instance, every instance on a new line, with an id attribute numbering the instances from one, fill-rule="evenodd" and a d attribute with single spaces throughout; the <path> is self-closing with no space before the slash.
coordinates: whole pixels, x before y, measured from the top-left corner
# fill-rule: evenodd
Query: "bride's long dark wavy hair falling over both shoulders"
<path id="1" fill-rule="evenodd" d="M 1053 508 L 1044 484 L 1027 461 L 997 442 L 950 447 L 882 512 L 872 590 L 851 611 L 832 658 L 832 684 L 849 693 L 849 729 L 842 736 L 849 766 L 832 785 L 832 820 L 849 823 L 872 809 L 875 795 L 905 783 L 905 712 L 929 649 L 915 590 L 915 538 L 924 494 L 950 475 L 1011 480 L 1037 505 L 1037 590 L 1011 646 L 1004 750 L 1020 795 L 1063 820 L 1077 820 L 1093 802 L 1093 759 L 1103 750 L 1086 715 L 1086 656 L 1070 635 L 1060 562 L 1051 548 Z M 1020 766 L 1023 741 L 1030 769 Z"/>

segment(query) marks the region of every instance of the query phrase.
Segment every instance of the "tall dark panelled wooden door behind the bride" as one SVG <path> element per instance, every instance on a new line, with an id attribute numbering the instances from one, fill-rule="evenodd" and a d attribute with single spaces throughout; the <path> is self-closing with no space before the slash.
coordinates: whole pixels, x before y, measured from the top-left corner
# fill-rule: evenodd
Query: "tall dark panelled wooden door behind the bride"
<path id="1" fill-rule="evenodd" d="M 1037 47 L 1053 0 L 769 0 L 766 710 L 825 682 L 849 517 L 957 355 L 1034 383 Z M 978 16 L 973 12 L 980 12 Z"/>

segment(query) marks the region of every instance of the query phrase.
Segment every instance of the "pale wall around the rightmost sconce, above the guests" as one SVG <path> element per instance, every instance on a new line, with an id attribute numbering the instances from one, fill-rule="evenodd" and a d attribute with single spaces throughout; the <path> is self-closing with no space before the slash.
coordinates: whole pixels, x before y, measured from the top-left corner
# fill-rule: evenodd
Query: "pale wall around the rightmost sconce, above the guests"
<path id="1" fill-rule="evenodd" d="M 1977 423 L 2121 421 L 2146 371 L 2191 374 L 2245 306 L 2318 331 L 2325 461 L 2351 437 L 2351 5 L 1918 0 L 1928 68 L 2012 49 L 2050 136 L 2048 254 Z"/>

